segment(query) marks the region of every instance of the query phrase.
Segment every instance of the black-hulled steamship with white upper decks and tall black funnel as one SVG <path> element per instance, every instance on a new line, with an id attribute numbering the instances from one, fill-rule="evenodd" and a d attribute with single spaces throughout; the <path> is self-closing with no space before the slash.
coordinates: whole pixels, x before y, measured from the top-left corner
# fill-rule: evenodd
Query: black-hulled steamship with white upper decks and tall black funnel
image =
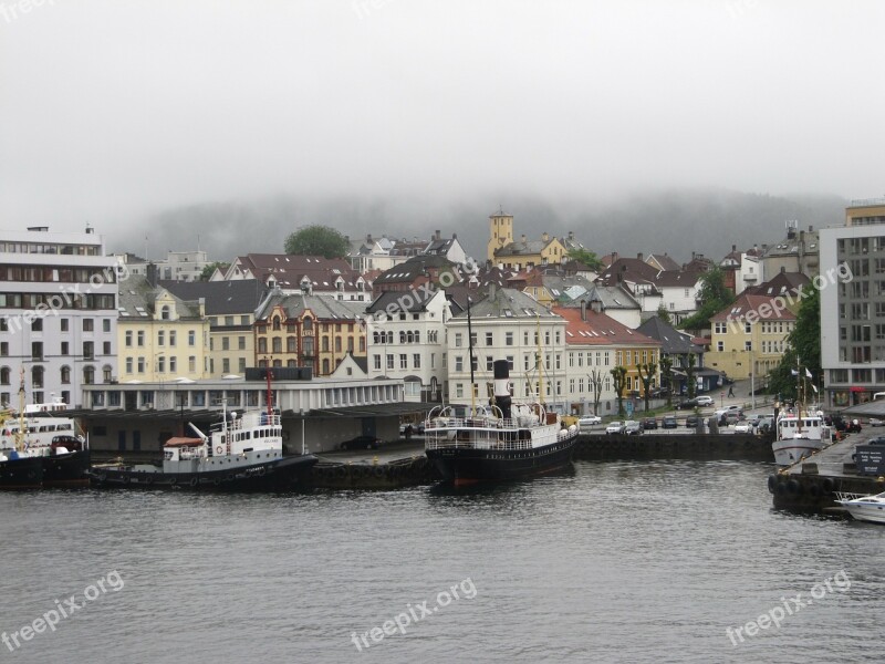
<path id="1" fill-rule="evenodd" d="M 497 360 L 494 397 L 458 416 L 437 406 L 425 423 L 425 453 L 456 486 L 528 478 L 568 467 L 577 426 L 565 427 L 543 403 L 512 404 L 507 360 Z M 472 383 L 472 378 L 471 378 Z"/>

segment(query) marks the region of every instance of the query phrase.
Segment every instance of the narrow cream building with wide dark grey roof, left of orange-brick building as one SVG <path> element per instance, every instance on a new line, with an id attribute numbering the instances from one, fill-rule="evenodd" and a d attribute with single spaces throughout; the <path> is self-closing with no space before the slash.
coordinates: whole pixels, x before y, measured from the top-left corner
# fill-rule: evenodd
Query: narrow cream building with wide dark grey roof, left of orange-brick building
<path id="1" fill-rule="evenodd" d="M 254 366 L 256 344 L 252 323 L 256 309 L 268 294 L 258 279 L 235 281 L 166 281 L 169 292 L 183 300 L 202 300 L 209 319 L 209 347 L 206 377 L 246 375 Z"/>

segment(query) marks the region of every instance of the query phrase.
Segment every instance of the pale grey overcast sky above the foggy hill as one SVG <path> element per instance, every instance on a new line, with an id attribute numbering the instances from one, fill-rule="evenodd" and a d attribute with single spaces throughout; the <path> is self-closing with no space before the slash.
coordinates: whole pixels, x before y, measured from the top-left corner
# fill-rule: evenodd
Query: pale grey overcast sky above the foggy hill
<path id="1" fill-rule="evenodd" d="M 881 1 L 39 1 L 0 0 L 2 228 L 281 195 L 885 194 Z"/>

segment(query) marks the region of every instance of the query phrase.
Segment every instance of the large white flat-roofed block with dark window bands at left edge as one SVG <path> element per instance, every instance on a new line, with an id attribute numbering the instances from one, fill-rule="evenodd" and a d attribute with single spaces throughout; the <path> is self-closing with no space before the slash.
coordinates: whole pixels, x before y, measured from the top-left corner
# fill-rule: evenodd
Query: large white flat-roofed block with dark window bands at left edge
<path id="1" fill-rule="evenodd" d="M 116 378 L 118 277 L 90 228 L 0 231 L 0 402 L 18 407 L 22 370 L 28 401 L 75 406 Z"/>

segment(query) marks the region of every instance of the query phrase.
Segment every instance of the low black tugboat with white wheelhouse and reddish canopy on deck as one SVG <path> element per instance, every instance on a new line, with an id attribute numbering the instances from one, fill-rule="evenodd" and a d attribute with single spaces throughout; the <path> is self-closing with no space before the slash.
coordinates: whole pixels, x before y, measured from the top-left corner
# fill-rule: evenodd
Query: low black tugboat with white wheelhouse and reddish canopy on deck
<path id="1" fill-rule="evenodd" d="M 174 437 L 163 446 L 163 465 L 104 464 L 88 471 L 98 487 L 209 491 L 274 491 L 294 488 L 319 460 L 283 456 L 280 415 L 272 411 L 222 412 L 209 435 Z"/>

